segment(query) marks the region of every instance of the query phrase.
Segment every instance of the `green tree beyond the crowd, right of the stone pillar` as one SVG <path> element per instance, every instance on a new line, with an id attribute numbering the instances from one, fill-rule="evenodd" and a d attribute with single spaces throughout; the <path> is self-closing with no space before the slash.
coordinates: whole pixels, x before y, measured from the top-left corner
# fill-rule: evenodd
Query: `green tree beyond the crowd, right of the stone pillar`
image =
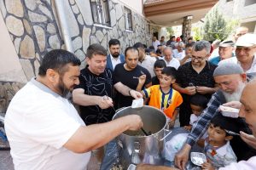
<path id="1" fill-rule="evenodd" d="M 234 24 L 235 23 L 235 24 Z M 224 40 L 229 37 L 230 32 L 233 30 L 236 22 L 228 24 L 217 8 L 212 10 L 206 15 L 206 20 L 203 26 L 203 38 L 207 41 L 214 41 L 216 39 Z"/>

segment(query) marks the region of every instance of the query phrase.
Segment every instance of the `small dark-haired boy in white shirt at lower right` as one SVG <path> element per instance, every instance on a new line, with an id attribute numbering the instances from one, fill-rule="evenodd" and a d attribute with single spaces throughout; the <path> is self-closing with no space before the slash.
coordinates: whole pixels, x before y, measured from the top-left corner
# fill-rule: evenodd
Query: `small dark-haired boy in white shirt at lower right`
<path id="1" fill-rule="evenodd" d="M 230 139 L 233 138 L 230 133 L 239 133 L 236 120 L 221 114 L 212 118 L 204 146 L 208 162 L 202 164 L 202 169 L 214 170 L 236 162 L 236 155 L 230 146 Z"/>

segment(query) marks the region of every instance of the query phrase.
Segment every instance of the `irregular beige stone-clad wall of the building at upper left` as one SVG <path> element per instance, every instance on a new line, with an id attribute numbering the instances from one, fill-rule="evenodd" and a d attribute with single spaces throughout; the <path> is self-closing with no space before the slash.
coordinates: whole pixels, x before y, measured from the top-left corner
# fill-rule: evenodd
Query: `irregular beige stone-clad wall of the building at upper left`
<path id="1" fill-rule="evenodd" d="M 108 48 L 108 41 L 117 38 L 121 42 L 122 51 L 135 42 L 151 43 L 148 21 L 131 8 L 132 27 L 126 29 L 125 8 L 129 7 L 119 0 L 108 0 L 109 26 L 94 22 L 90 0 L 61 2 L 73 53 L 82 61 L 81 67 L 85 65 L 86 48 L 92 43 L 100 43 Z M 18 81 L 18 77 L 17 81 L 12 82 L 0 79 L 0 112 L 5 112 L 15 93 L 32 77 L 37 76 L 44 54 L 55 48 L 65 48 L 65 43 L 54 0 L 0 0 L 0 9 L 26 77 L 25 82 Z"/>

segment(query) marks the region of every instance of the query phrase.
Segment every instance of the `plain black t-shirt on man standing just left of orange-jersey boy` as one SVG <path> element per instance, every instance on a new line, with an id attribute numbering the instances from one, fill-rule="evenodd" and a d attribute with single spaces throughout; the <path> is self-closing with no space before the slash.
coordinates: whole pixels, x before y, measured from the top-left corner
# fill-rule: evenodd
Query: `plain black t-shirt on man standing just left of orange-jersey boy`
<path id="1" fill-rule="evenodd" d="M 120 63 L 116 65 L 114 68 L 113 84 L 117 82 L 122 82 L 129 88 L 135 90 L 138 84 L 138 77 L 142 76 L 143 74 L 146 75 L 146 81 L 144 85 L 151 82 L 151 76 L 147 69 L 143 68 L 140 65 L 137 65 L 137 67 L 132 71 L 126 71 L 124 63 Z M 131 96 L 124 96 L 123 94 L 117 93 L 117 98 L 116 98 L 117 108 L 131 106 L 132 99 L 133 98 Z"/>

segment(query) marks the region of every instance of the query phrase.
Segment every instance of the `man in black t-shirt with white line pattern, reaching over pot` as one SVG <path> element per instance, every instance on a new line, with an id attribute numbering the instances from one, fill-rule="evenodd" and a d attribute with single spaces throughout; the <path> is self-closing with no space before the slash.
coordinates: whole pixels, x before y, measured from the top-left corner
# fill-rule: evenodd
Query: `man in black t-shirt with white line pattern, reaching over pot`
<path id="1" fill-rule="evenodd" d="M 107 50 L 100 44 L 91 44 L 86 54 L 88 65 L 81 71 L 80 83 L 73 90 L 73 102 L 79 105 L 80 116 L 86 125 L 109 122 L 114 114 L 113 72 L 106 68 Z M 142 97 L 122 83 L 114 85 L 114 88 L 126 96 Z"/>

